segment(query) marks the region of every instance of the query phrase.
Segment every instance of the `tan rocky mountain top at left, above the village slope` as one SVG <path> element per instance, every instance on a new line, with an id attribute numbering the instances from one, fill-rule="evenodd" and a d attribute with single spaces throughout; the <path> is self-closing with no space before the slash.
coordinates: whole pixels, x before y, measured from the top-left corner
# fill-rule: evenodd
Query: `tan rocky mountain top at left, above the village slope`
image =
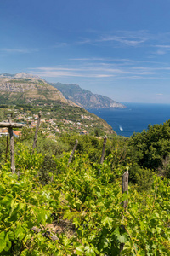
<path id="1" fill-rule="evenodd" d="M 65 96 L 48 84 L 45 80 L 27 73 L 14 75 L 3 73 L 0 75 L 0 101 L 8 102 L 32 102 L 32 101 L 55 101 L 77 106 L 74 102 L 65 99 Z"/>

